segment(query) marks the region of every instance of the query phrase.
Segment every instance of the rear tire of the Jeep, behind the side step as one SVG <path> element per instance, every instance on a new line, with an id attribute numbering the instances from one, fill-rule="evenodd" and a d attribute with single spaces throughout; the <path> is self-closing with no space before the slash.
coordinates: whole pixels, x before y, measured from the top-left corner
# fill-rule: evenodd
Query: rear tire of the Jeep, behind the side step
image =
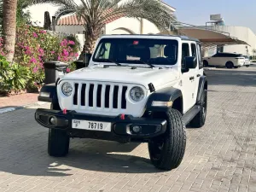
<path id="1" fill-rule="evenodd" d="M 199 101 L 200 112 L 197 113 L 190 121 L 190 125 L 194 128 L 201 128 L 206 123 L 207 119 L 207 90 L 203 90 L 203 95 Z"/>

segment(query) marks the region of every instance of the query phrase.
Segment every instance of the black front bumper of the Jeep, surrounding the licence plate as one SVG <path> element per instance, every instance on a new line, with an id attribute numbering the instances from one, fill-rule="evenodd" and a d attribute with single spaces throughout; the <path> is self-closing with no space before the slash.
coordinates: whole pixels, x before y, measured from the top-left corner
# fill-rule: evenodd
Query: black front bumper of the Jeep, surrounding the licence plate
<path id="1" fill-rule="evenodd" d="M 55 125 L 50 123 L 50 118 L 55 118 Z M 58 110 L 38 108 L 35 113 L 35 119 L 39 125 L 49 129 L 61 129 L 67 131 L 70 137 L 96 138 L 110 141 L 122 142 L 147 142 L 152 137 L 160 136 L 166 132 L 166 119 L 146 119 L 134 118 L 131 115 L 121 115 L 117 117 L 90 115 L 67 111 L 63 113 Z M 73 119 L 90 120 L 95 122 L 111 123 L 111 131 L 91 131 L 83 129 L 74 129 Z M 133 131 L 133 126 L 139 126 L 138 132 Z M 125 140 L 125 141 L 124 141 Z"/>

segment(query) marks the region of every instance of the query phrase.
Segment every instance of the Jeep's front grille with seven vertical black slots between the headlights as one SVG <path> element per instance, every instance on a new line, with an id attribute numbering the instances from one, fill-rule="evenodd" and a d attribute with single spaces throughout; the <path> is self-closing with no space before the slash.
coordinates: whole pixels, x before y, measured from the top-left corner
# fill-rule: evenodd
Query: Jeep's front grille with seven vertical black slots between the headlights
<path id="1" fill-rule="evenodd" d="M 127 86 L 118 84 L 74 84 L 73 105 L 90 108 L 126 108 Z"/>

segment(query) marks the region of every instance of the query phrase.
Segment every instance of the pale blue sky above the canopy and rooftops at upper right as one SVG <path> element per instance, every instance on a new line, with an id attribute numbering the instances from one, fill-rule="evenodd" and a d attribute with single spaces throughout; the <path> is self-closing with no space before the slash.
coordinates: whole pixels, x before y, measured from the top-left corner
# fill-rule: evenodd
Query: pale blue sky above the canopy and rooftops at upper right
<path id="1" fill-rule="evenodd" d="M 164 0 L 176 9 L 177 20 L 205 26 L 210 15 L 220 14 L 226 26 L 247 26 L 256 34 L 255 0 Z"/>

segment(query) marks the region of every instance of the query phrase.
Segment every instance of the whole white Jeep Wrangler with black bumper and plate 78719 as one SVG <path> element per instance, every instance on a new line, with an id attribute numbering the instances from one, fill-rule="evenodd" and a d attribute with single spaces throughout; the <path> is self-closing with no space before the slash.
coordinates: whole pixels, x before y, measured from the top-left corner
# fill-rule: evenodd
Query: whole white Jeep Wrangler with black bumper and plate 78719
<path id="1" fill-rule="evenodd" d="M 102 36 L 88 67 L 40 91 L 35 119 L 49 128 L 51 156 L 68 153 L 70 137 L 148 143 L 154 166 L 172 170 L 183 160 L 185 126 L 207 114 L 201 44 L 182 36 Z"/>

